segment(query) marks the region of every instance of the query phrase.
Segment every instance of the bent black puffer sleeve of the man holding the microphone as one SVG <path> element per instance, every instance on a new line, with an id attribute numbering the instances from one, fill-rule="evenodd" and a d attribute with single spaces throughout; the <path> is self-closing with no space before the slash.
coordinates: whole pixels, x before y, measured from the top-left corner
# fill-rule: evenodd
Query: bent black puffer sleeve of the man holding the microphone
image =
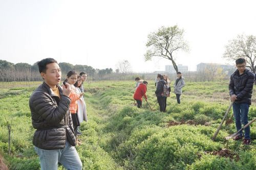
<path id="1" fill-rule="evenodd" d="M 49 124 L 58 124 L 64 118 L 69 110 L 70 98 L 66 95 L 62 95 L 58 106 L 54 105 L 50 95 L 42 92 L 34 92 L 30 98 L 30 108 L 33 108 L 34 113 L 38 114 L 46 120 Z"/>

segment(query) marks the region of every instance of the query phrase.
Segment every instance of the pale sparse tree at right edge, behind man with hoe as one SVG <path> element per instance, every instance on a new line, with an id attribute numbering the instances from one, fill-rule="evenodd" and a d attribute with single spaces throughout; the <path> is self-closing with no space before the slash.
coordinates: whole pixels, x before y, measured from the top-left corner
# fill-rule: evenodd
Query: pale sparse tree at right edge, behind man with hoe
<path id="1" fill-rule="evenodd" d="M 228 42 L 223 55 L 231 61 L 238 58 L 245 58 L 246 62 L 253 73 L 256 71 L 256 36 L 253 35 L 238 35 L 236 39 Z"/>

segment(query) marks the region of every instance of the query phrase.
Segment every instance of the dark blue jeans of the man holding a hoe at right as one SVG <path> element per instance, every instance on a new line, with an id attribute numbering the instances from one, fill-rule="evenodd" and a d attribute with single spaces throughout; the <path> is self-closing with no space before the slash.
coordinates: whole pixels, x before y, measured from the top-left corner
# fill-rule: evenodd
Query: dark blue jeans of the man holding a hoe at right
<path id="1" fill-rule="evenodd" d="M 242 124 L 248 124 L 248 112 L 249 112 L 249 104 L 246 103 L 233 103 L 233 114 L 236 119 L 236 127 L 237 131 L 242 128 Z M 241 131 L 241 135 L 243 132 Z M 244 138 L 250 139 L 250 126 L 244 129 Z"/>

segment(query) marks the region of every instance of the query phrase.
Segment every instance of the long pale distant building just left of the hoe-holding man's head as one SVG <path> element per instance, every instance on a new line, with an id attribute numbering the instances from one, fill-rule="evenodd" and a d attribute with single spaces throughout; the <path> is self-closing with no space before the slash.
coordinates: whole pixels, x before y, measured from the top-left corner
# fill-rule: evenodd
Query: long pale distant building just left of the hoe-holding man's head
<path id="1" fill-rule="evenodd" d="M 231 75 L 236 70 L 234 65 L 218 64 L 218 63 L 200 63 L 197 65 L 197 72 L 205 71 L 206 69 L 222 68 L 223 72 Z"/>

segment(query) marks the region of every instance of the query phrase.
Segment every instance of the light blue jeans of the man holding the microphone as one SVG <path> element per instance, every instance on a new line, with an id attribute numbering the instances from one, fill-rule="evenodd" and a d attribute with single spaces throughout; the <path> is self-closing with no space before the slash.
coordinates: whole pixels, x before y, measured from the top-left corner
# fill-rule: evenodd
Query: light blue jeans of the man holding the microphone
<path id="1" fill-rule="evenodd" d="M 80 157 L 72 145 L 66 141 L 63 149 L 44 150 L 34 147 L 40 159 L 41 170 L 57 170 L 58 162 L 66 169 L 81 170 L 82 162 Z"/>

